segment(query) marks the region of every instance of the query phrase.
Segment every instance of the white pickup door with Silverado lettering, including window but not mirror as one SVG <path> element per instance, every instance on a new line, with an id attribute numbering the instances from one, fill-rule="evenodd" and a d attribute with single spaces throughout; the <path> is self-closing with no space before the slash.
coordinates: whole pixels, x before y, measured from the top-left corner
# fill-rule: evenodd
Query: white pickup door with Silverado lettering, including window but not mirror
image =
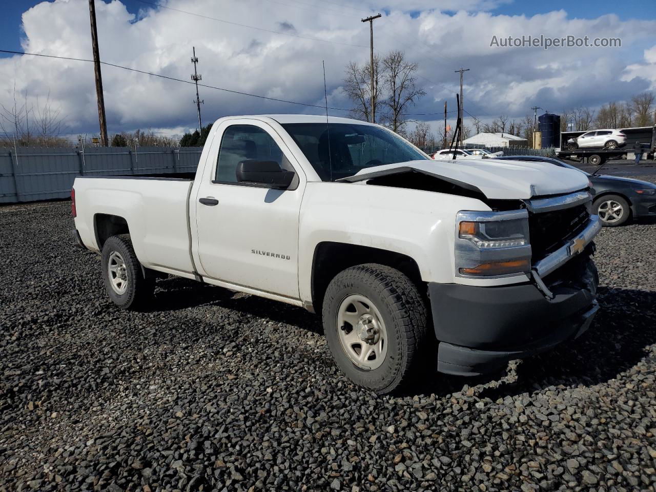
<path id="1" fill-rule="evenodd" d="M 195 197 L 199 271 L 218 281 L 298 298 L 298 215 L 306 178 L 266 123 L 222 123 Z M 277 161 L 296 176 L 287 190 L 237 182 L 237 163 Z"/>

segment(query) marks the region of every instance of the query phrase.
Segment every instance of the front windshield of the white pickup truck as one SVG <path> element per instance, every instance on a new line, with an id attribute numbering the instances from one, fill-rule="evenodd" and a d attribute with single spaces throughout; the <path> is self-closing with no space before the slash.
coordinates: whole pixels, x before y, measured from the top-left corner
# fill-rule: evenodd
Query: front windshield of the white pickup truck
<path id="1" fill-rule="evenodd" d="M 381 127 L 357 123 L 285 123 L 282 126 L 323 181 L 353 176 L 367 167 L 430 160 L 418 148 Z"/>

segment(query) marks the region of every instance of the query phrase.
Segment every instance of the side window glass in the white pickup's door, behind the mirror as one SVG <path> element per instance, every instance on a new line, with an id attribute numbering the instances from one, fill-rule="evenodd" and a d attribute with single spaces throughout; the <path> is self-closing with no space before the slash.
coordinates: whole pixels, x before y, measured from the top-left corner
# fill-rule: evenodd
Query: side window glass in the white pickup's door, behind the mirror
<path id="1" fill-rule="evenodd" d="M 247 159 L 276 161 L 283 169 L 292 170 L 270 134 L 253 125 L 232 125 L 221 138 L 214 180 L 236 183 L 237 164 Z"/>

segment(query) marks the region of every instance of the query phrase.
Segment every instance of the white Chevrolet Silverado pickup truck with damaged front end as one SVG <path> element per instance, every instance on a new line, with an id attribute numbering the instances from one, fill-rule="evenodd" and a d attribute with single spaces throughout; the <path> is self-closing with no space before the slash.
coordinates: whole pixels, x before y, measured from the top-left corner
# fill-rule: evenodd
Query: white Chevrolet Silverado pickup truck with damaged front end
<path id="1" fill-rule="evenodd" d="M 195 176 L 76 178 L 73 234 L 119 307 L 143 306 L 161 274 L 301 306 L 340 369 L 385 393 L 588 329 L 588 187 L 539 162 L 434 161 L 363 121 L 225 117 Z"/>

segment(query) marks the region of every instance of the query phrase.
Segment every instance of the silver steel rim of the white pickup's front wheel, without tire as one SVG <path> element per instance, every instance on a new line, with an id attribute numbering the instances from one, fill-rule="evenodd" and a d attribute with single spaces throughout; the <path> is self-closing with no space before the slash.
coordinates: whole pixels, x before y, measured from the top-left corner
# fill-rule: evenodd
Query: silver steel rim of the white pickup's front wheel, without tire
<path id="1" fill-rule="evenodd" d="M 387 331 L 378 308 L 363 295 L 352 294 L 337 310 L 337 335 L 344 353 L 360 369 L 378 369 L 387 355 Z"/>

